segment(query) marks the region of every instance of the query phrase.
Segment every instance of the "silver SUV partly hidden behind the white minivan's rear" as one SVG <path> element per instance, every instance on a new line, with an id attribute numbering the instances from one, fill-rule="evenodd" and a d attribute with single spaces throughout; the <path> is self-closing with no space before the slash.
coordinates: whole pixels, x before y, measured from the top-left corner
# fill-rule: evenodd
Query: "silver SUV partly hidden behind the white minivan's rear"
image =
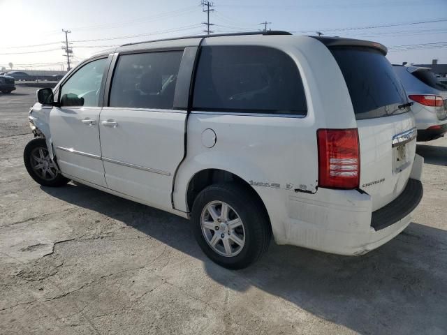
<path id="1" fill-rule="evenodd" d="M 430 141 L 447 132 L 447 84 L 443 84 L 430 68 L 394 65 L 406 94 L 413 101 L 411 110 L 416 119 L 418 141 Z"/>

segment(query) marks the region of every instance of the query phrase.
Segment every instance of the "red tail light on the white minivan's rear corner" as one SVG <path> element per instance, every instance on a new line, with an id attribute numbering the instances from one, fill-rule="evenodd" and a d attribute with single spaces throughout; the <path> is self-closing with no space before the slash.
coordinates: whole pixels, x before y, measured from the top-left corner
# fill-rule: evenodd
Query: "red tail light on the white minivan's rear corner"
<path id="1" fill-rule="evenodd" d="M 318 186 L 358 188 L 360 149 L 354 129 L 318 129 Z"/>

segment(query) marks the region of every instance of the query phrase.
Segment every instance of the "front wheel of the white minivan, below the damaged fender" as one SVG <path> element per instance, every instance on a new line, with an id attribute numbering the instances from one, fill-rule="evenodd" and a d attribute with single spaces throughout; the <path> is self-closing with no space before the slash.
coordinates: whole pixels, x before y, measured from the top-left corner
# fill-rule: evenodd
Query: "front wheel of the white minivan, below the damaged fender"
<path id="1" fill-rule="evenodd" d="M 23 161 L 31 178 L 42 186 L 64 186 L 70 181 L 57 172 L 58 169 L 50 159 L 47 143 L 43 138 L 29 141 L 23 151 Z"/>

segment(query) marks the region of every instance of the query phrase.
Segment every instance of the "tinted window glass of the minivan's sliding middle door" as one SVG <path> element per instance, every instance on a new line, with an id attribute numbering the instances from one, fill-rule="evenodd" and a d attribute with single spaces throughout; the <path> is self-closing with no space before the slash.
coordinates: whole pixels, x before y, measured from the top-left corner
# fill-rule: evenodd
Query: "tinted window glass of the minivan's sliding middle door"
<path id="1" fill-rule="evenodd" d="M 172 109 L 182 54 L 167 51 L 119 57 L 110 107 Z"/>

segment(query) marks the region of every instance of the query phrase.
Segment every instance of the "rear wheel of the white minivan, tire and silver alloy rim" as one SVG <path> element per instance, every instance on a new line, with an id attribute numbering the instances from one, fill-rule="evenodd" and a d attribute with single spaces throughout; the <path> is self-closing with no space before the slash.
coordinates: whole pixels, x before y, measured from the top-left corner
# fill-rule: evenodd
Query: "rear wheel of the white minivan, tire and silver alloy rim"
<path id="1" fill-rule="evenodd" d="M 227 215 L 222 215 L 222 208 L 228 209 L 224 210 Z M 202 251 L 227 269 L 248 267 L 270 244 L 270 222 L 263 204 L 240 184 L 214 184 L 201 191 L 194 200 L 191 221 Z"/>

